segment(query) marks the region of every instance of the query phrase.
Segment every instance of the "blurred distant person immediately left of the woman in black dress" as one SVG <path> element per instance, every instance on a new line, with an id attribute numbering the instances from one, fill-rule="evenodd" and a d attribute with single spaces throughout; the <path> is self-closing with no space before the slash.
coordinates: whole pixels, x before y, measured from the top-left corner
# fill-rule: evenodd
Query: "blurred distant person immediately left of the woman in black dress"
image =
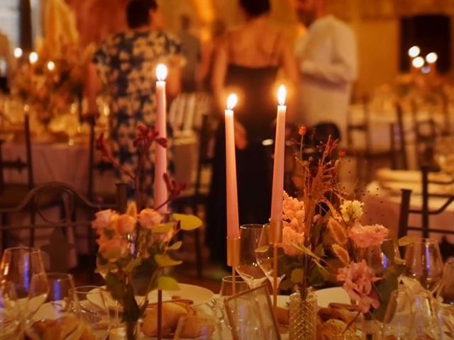
<path id="1" fill-rule="evenodd" d="M 210 82 L 213 72 L 214 51 L 224 33 L 226 33 L 226 24 L 221 19 L 216 19 L 211 23 L 211 37 L 202 45 L 201 60 L 196 72 L 198 91 L 211 91 Z"/>

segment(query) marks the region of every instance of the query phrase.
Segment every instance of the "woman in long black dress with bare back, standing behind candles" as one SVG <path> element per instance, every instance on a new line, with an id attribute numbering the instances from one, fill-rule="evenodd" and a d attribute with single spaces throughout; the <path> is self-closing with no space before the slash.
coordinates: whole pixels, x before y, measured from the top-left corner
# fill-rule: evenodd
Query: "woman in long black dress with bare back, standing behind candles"
<path id="1" fill-rule="evenodd" d="M 297 64 L 284 34 L 268 22 L 269 0 L 240 0 L 245 23 L 231 30 L 216 47 L 212 85 L 219 111 L 227 95 L 238 94 L 235 108 L 236 165 L 240 225 L 266 223 L 270 218 L 270 149 L 264 140 L 275 137 L 277 72 L 297 84 Z M 211 259 L 226 263 L 226 147 L 221 123 L 207 211 Z"/>

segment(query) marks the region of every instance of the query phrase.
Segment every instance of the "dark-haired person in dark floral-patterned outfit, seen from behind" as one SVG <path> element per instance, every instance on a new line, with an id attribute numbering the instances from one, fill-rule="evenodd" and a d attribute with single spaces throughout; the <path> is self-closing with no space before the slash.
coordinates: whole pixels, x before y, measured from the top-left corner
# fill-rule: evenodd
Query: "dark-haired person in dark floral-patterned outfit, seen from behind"
<path id="1" fill-rule="evenodd" d="M 104 89 L 109 101 L 111 152 L 123 168 L 133 171 L 138 154 L 133 142 L 139 125 L 155 125 L 155 68 L 160 62 L 169 70 L 166 79 L 167 97 L 175 97 L 180 89 L 181 46 L 176 38 L 162 30 L 162 16 L 155 0 L 131 0 L 126 8 L 128 30 L 101 42 L 89 68 L 87 100 L 89 113 L 97 113 L 96 96 Z M 169 127 L 169 125 L 167 125 Z M 171 131 L 167 131 L 171 138 Z M 171 141 L 171 140 L 170 140 Z M 169 142 L 170 142 L 169 141 Z M 171 153 L 167 152 L 170 157 Z M 150 159 L 153 160 L 153 155 Z M 153 189 L 153 164 L 147 162 L 146 190 Z M 169 162 L 170 166 L 172 163 Z M 128 177 L 118 174 L 126 183 Z M 133 198 L 133 186 L 128 197 Z"/>

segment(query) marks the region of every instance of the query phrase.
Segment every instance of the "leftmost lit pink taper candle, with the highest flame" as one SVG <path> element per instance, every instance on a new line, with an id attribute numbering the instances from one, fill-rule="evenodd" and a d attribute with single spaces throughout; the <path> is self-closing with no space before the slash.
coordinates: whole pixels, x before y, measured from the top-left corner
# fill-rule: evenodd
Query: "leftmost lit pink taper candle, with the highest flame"
<path id="1" fill-rule="evenodd" d="M 167 108 L 165 101 L 165 78 L 167 67 L 159 64 L 156 67 L 156 130 L 159 137 L 167 138 Z M 167 200 L 167 186 L 163 175 L 167 172 L 167 150 L 165 147 L 156 147 L 155 152 L 155 207 Z M 167 204 L 160 208 L 160 212 L 167 212 Z"/>

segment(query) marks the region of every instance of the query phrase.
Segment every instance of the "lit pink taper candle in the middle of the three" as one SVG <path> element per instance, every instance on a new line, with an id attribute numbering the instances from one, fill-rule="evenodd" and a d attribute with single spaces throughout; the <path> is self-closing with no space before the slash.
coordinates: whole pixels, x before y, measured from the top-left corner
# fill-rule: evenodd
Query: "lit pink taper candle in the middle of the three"
<path id="1" fill-rule="evenodd" d="M 240 237 L 240 222 L 238 217 L 238 189 L 236 186 L 236 156 L 235 132 L 233 123 L 233 108 L 238 97 L 231 94 L 227 98 L 226 115 L 226 191 L 227 191 L 227 237 Z"/>

